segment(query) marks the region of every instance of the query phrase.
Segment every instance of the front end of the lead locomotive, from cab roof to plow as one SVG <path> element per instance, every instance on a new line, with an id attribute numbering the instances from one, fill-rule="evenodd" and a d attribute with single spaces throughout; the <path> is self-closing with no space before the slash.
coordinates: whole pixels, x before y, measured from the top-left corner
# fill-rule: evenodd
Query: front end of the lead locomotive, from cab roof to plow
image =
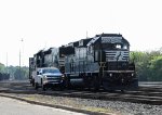
<path id="1" fill-rule="evenodd" d="M 93 48 L 94 63 L 98 63 L 97 76 L 105 89 L 124 90 L 138 87 L 135 64 L 130 63 L 130 43 L 122 35 L 96 35 L 87 48 Z"/>

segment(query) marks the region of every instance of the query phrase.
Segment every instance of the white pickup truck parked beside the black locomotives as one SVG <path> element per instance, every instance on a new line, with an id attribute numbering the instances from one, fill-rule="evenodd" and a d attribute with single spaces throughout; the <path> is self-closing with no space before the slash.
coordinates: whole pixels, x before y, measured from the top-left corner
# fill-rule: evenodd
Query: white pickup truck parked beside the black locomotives
<path id="1" fill-rule="evenodd" d="M 35 77 L 35 88 L 64 88 L 64 75 L 56 67 L 42 67 L 37 69 Z"/>

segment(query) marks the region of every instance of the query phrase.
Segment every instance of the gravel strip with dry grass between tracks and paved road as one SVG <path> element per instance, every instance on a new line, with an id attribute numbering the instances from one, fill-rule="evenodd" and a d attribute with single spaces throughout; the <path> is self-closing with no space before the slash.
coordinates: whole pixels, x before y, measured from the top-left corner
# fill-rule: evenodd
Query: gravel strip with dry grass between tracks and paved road
<path id="1" fill-rule="evenodd" d="M 1 93 L 21 99 L 43 102 L 52 105 L 108 113 L 112 115 L 162 115 L 162 105 L 138 104 L 120 101 L 103 101 L 79 98 L 66 98 L 43 94 Z"/>

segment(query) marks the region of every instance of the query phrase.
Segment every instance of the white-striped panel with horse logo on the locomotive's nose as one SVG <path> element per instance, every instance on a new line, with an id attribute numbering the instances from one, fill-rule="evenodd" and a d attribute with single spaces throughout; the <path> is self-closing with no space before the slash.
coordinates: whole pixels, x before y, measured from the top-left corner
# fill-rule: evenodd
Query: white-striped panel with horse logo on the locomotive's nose
<path id="1" fill-rule="evenodd" d="M 105 51 L 107 62 L 129 61 L 129 51 Z"/>

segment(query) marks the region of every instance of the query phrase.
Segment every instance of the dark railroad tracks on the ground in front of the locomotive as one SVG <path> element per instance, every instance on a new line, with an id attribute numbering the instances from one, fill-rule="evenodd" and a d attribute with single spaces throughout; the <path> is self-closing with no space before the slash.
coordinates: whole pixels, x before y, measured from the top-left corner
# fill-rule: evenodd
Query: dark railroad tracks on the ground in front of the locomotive
<path id="1" fill-rule="evenodd" d="M 162 104 L 162 89 L 160 87 L 139 87 L 135 91 L 121 91 L 106 92 L 99 90 L 98 92 L 92 92 L 87 90 L 48 90 L 41 89 L 35 90 L 28 82 L 2 82 L 0 84 L 0 92 L 5 93 L 26 93 L 26 94 L 45 94 L 55 97 L 69 97 L 69 98 L 83 98 L 83 99 L 96 99 L 96 100 L 111 100 L 111 101 L 124 101 L 134 103 L 145 103 L 152 105 Z"/>

